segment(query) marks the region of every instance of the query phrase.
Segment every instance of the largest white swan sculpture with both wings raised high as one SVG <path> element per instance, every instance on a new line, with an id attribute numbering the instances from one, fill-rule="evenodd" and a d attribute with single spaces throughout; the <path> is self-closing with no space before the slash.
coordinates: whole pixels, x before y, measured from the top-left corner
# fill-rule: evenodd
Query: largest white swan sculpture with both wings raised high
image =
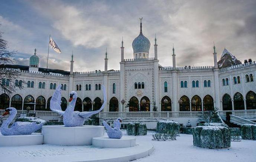
<path id="1" fill-rule="evenodd" d="M 65 111 L 62 111 L 62 109 L 61 109 L 61 85 L 59 85 L 56 88 L 56 91 L 52 95 L 51 102 L 50 102 L 50 109 L 54 112 L 58 112 L 59 114 L 61 114 L 63 116 L 64 126 L 67 126 L 67 127 L 82 126 L 84 124 L 85 118 L 88 118 L 93 114 L 97 114 L 104 108 L 104 106 L 107 102 L 107 98 L 106 98 L 106 91 L 105 91 L 104 85 L 102 86 L 102 88 L 103 88 L 103 98 L 104 98 L 103 101 L 104 102 L 103 102 L 101 108 L 96 111 L 83 111 L 83 112 L 74 111 L 75 102 L 77 101 L 77 92 L 74 92 L 74 91 L 70 92 L 70 94 L 69 94 L 70 98 L 69 98 L 69 105 L 68 105 L 67 109 Z"/>

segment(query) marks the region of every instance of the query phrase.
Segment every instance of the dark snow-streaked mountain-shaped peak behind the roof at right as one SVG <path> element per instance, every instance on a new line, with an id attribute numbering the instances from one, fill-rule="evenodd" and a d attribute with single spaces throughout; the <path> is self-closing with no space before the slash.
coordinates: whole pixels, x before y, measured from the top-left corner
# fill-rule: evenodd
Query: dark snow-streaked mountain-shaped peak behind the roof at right
<path id="1" fill-rule="evenodd" d="M 226 48 L 224 48 L 220 60 L 218 61 L 218 66 L 222 68 L 239 64 L 242 64 L 242 62 L 237 60 L 237 58 L 233 54 L 231 54 Z"/>

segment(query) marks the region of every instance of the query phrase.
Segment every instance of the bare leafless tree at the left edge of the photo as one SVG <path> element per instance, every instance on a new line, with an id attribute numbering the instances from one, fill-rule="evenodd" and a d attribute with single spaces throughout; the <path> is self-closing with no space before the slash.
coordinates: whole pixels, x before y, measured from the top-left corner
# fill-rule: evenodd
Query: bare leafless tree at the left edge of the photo
<path id="1" fill-rule="evenodd" d="M 6 64 L 14 64 L 14 55 L 16 51 L 7 50 L 7 41 L 2 39 L 2 33 L 0 32 L 0 67 Z M 25 82 L 16 79 L 20 76 L 20 70 L 12 68 L 0 68 L 0 90 L 7 94 L 12 94 L 16 91 L 16 88 L 24 88 Z"/>

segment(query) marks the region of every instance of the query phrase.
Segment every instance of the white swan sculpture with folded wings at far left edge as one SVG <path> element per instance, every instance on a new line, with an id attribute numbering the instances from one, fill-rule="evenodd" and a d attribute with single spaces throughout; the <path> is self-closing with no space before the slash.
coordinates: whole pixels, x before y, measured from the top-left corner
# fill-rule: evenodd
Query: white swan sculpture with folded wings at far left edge
<path id="1" fill-rule="evenodd" d="M 29 135 L 42 128 L 43 124 L 45 123 L 43 120 L 41 120 L 43 122 L 40 124 L 36 124 L 36 122 L 17 121 L 14 122 L 13 125 L 9 128 L 9 124 L 17 114 L 16 108 L 10 107 L 5 109 L 3 116 L 8 114 L 10 114 L 10 116 L 3 122 L 0 128 L 2 135 Z"/>

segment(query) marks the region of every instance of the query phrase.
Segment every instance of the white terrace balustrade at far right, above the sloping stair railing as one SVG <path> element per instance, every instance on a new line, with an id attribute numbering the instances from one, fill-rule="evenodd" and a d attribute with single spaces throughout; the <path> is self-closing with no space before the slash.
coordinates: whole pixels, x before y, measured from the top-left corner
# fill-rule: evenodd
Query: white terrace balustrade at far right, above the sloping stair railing
<path id="1" fill-rule="evenodd" d="M 220 116 L 226 117 L 227 112 L 232 112 L 232 115 L 236 115 L 238 117 L 256 117 L 256 109 L 254 110 L 229 110 L 229 111 L 218 111 Z"/>

